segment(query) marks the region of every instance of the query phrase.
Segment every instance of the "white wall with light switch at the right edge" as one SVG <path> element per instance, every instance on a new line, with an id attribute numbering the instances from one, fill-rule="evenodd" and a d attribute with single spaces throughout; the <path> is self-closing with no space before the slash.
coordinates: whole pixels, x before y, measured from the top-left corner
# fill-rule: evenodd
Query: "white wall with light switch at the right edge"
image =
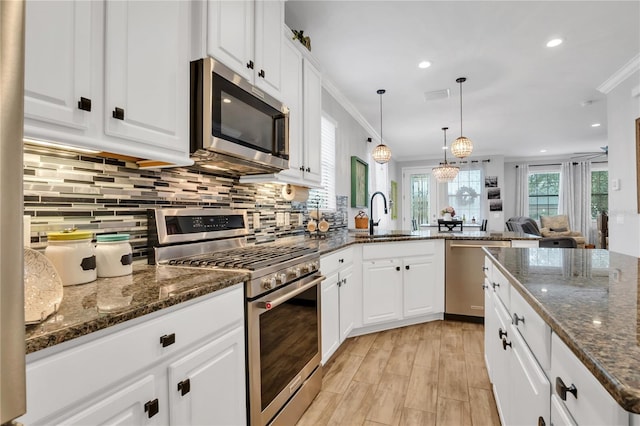
<path id="1" fill-rule="evenodd" d="M 640 256 L 636 131 L 640 117 L 640 70 L 607 93 L 609 139 L 609 250 Z M 612 189 L 618 179 L 620 190 Z"/>

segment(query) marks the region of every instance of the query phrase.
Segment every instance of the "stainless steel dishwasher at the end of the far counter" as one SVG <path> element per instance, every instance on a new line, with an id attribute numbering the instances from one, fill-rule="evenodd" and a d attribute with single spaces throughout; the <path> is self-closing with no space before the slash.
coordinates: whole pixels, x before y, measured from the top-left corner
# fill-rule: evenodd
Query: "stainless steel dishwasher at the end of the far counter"
<path id="1" fill-rule="evenodd" d="M 447 240 L 445 318 L 481 322 L 484 318 L 482 247 L 511 247 L 510 241 Z"/>

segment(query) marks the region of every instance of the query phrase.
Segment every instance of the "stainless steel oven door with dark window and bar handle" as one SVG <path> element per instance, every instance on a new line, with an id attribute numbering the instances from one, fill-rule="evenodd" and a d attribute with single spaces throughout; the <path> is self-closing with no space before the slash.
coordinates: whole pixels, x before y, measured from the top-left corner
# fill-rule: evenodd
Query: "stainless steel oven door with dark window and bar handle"
<path id="1" fill-rule="evenodd" d="M 266 425 L 320 365 L 320 283 L 310 275 L 249 301 L 251 425 Z"/>

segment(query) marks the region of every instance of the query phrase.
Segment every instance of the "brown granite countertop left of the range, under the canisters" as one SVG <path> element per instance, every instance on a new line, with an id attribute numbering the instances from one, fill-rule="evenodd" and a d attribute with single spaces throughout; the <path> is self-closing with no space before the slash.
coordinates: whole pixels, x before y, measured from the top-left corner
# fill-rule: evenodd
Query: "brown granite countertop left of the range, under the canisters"
<path id="1" fill-rule="evenodd" d="M 133 274 L 64 287 L 60 309 L 26 326 L 26 353 L 244 282 L 245 272 L 134 265 Z"/>

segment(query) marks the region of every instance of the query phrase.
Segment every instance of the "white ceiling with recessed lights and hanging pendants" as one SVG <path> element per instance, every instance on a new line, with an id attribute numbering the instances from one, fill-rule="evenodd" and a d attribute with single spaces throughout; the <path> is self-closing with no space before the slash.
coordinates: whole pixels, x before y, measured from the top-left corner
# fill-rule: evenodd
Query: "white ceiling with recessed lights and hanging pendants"
<path id="1" fill-rule="evenodd" d="M 376 91 L 386 89 L 382 131 L 398 161 L 442 157 L 442 127 L 448 145 L 460 136 L 458 77 L 467 78 L 472 159 L 600 151 L 607 117 L 597 87 L 640 52 L 639 1 L 288 0 L 285 12 L 378 133 Z M 555 37 L 564 43 L 546 47 Z M 418 68 L 423 60 L 432 65 Z M 443 89 L 448 98 L 425 100 Z"/>

